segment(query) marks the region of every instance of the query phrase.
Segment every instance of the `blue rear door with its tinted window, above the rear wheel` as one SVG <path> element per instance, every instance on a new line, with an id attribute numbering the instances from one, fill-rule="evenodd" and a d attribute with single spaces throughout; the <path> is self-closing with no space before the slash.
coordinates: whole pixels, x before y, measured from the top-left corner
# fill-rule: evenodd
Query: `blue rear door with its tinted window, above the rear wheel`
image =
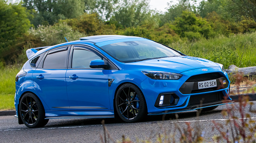
<path id="1" fill-rule="evenodd" d="M 35 90 L 51 110 L 69 110 L 65 75 L 70 47 L 48 51 L 32 75 Z"/>

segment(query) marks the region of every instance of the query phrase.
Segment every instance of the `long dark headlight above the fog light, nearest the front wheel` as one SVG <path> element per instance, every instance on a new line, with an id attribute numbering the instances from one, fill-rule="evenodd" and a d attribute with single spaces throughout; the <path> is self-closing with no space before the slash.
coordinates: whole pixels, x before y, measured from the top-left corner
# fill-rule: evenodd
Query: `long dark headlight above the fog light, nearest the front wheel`
<path id="1" fill-rule="evenodd" d="M 142 71 L 142 73 L 155 80 L 179 80 L 182 76 L 182 74 L 161 71 Z"/>

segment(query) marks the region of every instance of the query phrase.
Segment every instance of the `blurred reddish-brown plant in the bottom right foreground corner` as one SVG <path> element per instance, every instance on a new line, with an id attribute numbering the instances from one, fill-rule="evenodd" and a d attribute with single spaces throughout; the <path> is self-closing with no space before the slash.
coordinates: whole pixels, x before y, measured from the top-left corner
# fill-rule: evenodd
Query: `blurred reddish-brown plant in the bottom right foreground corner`
<path id="1" fill-rule="evenodd" d="M 239 94 L 241 82 L 245 81 L 248 85 L 248 78 L 244 79 L 243 74 L 239 73 L 235 76 L 235 85 Z M 253 103 L 249 102 L 249 96 L 241 94 L 238 95 L 237 102 L 238 104 L 226 104 L 227 109 L 221 111 L 222 115 L 227 117 L 225 126 L 212 121 L 214 124 L 212 130 L 216 129 L 220 133 L 213 137 L 215 142 L 224 139 L 227 143 L 256 143 L 256 121 L 252 120 L 250 115 L 250 113 L 256 113 L 256 110 L 252 109 Z M 246 108 L 249 108 L 250 113 L 246 113 Z M 240 117 L 236 115 L 237 112 Z"/>

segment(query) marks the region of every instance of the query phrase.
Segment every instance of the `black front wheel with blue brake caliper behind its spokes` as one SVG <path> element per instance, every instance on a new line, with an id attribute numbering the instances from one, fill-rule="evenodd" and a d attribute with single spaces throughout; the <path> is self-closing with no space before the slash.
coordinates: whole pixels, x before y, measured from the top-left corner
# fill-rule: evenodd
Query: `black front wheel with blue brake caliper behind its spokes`
<path id="1" fill-rule="evenodd" d="M 138 122 L 147 115 L 147 104 L 140 89 L 131 84 L 122 85 L 115 97 L 115 107 L 119 117 L 128 123 Z"/>

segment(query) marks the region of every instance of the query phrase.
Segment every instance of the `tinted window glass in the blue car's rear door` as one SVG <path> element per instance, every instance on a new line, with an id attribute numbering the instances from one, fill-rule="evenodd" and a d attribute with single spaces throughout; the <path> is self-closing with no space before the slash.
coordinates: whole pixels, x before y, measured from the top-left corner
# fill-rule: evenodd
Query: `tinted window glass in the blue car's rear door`
<path id="1" fill-rule="evenodd" d="M 65 65 L 66 57 L 67 57 L 67 50 L 48 53 L 48 55 L 44 59 L 43 68 L 45 69 L 66 68 L 66 65 Z"/>

